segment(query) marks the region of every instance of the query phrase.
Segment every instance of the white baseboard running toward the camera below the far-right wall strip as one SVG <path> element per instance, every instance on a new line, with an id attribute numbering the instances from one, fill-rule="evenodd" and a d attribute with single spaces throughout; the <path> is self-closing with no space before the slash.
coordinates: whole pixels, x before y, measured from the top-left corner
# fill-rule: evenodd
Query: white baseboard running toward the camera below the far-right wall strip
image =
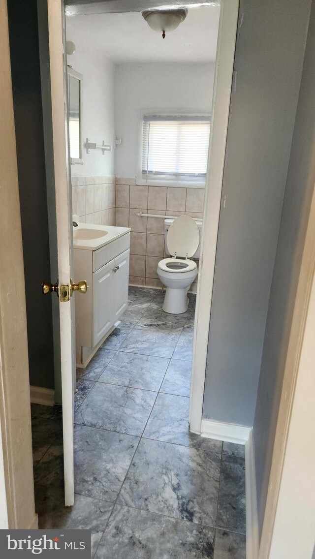
<path id="1" fill-rule="evenodd" d="M 257 559 L 259 552 L 258 510 L 253 430 L 245 444 L 246 559 Z"/>

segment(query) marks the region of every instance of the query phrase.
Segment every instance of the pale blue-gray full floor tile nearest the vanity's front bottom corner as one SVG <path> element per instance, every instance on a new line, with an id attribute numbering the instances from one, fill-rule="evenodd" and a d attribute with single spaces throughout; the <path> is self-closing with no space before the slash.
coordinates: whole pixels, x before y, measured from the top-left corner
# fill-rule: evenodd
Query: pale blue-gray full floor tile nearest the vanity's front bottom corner
<path id="1" fill-rule="evenodd" d="M 169 362 L 165 357 L 117 352 L 98 381 L 158 392 Z"/>

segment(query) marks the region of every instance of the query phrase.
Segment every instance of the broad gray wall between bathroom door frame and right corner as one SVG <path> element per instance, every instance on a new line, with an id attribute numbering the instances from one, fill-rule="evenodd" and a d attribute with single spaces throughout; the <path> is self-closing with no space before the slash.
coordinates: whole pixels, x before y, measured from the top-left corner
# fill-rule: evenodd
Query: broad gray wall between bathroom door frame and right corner
<path id="1" fill-rule="evenodd" d="M 204 418 L 253 425 L 310 3 L 240 2 Z"/>

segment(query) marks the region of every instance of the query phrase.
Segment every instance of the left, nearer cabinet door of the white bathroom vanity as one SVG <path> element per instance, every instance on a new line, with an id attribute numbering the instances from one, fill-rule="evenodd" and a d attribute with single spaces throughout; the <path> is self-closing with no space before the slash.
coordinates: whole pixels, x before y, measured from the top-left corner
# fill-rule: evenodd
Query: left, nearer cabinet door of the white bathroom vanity
<path id="1" fill-rule="evenodd" d="M 114 323 L 115 260 L 93 273 L 93 347 Z"/>

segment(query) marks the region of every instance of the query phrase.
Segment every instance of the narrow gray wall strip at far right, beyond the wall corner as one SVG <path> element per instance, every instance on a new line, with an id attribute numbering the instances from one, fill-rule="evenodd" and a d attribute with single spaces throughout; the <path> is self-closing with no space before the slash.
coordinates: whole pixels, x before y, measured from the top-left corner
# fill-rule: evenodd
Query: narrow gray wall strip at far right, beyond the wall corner
<path id="1" fill-rule="evenodd" d="M 297 117 L 272 277 L 254 422 L 258 519 L 264 519 L 293 305 L 315 184 L 315 2 L 305 50 Z"/>

